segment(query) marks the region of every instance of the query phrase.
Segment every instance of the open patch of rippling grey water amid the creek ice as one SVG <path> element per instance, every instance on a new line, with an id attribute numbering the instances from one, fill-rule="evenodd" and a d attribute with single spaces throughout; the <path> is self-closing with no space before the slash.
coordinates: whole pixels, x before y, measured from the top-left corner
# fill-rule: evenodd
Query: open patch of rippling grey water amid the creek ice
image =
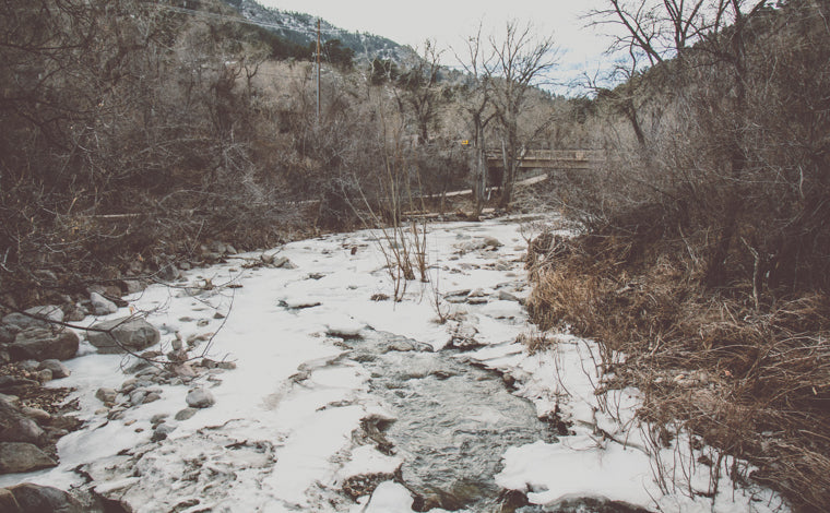
<path id="1" fill-rule="evenodd" d="M 415 509 L 512 511 L 494 482 L 511 445 L 556 440 L 533 405 L 511 394 L 498 373 L 432 353 L 416 341 L 382 332 L 347 341 L 351 358 L 371 372 L 370 389 L 398 420 L 379 426 L 404 460 L 404 485 Z"/>

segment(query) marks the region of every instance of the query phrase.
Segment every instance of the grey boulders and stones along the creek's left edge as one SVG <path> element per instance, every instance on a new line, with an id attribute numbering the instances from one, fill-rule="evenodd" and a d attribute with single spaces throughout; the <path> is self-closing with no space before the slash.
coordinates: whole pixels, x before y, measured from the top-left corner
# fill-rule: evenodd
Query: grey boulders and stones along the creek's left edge
<path id="1" fill-rule="evenodd" d="M 124 279 L 92 285 L 84 294 L 52 294 L 51 298 L 60 305 L 7 312 L 0 318 L 0 475 L 58 465 L 58 441 L 83 425 L 73 415 L 78 399 L 67 402 L 72 389 L 60 386 L 60 380 L 71 373 L 64 362 L 82 355 L 82 346 L 86 344 L 86 351 L 141 357 L 124 369 L 132 378 L 120 387 L 97 390 L 99 413 L 109 419 L 121 418 L 129 408 L 158 399 L 158 385 L 165 384 L 191 389 L 187 404 L 176 414 L 177 420 L 212 406 L 214 399 L 210 391 L 198 382 L 216 383 L 218 374 L 235 368 L 229 361 L 194 357 L 198 347 L 212 333 L 190 336 L 187 341 L 174 338 L 170 350 L 165 354 L 161 350 L 159 330 L 142 314 L 112 317 L 128 305 L 122 296 L 141 291 L 154 281 L 173 283 L 181 277 L 182 271 L 220 262 L 233 254 L 236 250 L 228 244 L 202 247 L 199 259 L 177 265 L 168 263 L 157 270 L 139 264 L 128 271 Z M 249 267 L 281 265 L 290 265 L 290 262 L 264 253 L 261 259 L 248 262 Z M 44 274 L 44 278 L 60 282 L 52 272 Z M 96 320 L 99 317 L 106 320 Z M 165 420 L 153 419 L 154 439 L 163 440 L 173 430 Z M 0 511 L 80 512 L 103 508 L 98 499 L 75 494 L 34 484 L 0 488 Z"/>

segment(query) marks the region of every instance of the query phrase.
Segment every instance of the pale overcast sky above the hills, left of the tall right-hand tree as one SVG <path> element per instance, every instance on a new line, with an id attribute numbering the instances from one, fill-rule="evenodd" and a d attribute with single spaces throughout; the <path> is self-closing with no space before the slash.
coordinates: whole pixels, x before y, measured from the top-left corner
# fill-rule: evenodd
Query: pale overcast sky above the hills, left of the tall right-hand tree
<path id="1" fill-rule="evenodd" d="M 351 32 L 369 32 L 413 48 L 426 38 L 439 48 L 463 48 L 464 37 L 479 21 L 485 33 L 503 32 L 508 20 L 532 22 L 541 35 L 553 35 L 560 47 L 557 79 L 567 81 L 582 70 L 595 72 L 608 41 L 585 28 L 580 16 L 603 0 L 259 0 L 260 3 L 316 16 Z M 448 52 L 452 64 L 452 53 Z"/>

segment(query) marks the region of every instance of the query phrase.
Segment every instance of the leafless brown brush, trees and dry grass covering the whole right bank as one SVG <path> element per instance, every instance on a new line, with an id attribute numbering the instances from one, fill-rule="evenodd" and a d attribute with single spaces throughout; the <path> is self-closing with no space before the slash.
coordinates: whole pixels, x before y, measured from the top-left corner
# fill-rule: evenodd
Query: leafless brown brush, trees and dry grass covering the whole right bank
<path id="1" fill-rule="evenodd" d="M 830 12 L 608 3 L 594 20 L 627 23 L 618 44 L 648 71 L 629 62 L 627 82 L 597 91 L 610 158 L 560 177 L 558 205 L 584 230 L 536 239 L 529 308 L 600 342 L 612 386 L 643 391 L 644 419 L 679 420 L 798 511 L 823 511 Z"/>

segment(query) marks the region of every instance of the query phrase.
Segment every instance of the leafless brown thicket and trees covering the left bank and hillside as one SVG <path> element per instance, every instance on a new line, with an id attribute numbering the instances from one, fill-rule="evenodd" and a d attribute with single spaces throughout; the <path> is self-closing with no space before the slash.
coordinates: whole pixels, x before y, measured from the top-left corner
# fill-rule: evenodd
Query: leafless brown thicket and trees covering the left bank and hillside
<path id="1" fill-rule="evenodd" d="M 7 309 L 63 303 L 90 282 L 127 273 L 152 279 L 177 261 L 204 260 L 212 243 L 262 248 L 361 226 L 367 203 L 396 218 L 384 205 L 407 206 L 404 194 L 453 212 L 446 193 L 470 188 L 472 147 L 502 147 L 513 166 L 521 144 L 546 136 L 525 133 L 522 120 L 568 108 L 532 87 L 553 63 L 552 41 L 536 45 L 514 24 L 503 43 L 479 36 L 486 61 L 472 77 L 439 67 L 430 44 L 392 62 L 358 60 L 324 40 L 318 109 L 313 53 L 215 0 L 0 10 Z M 506 59 L 525 53 L 536 61 L 523 82 L 505 76 Z M 485 90 L 520 102 L 478 103 L 479 115 L 503 119 L 472 138 L 464 112 Z M 398 124 L 387 130 L 383 119 Z M 390 145 L 401 183 L 391 202 Z M 475 172 L 479 199 L 515 179 Z"/>

